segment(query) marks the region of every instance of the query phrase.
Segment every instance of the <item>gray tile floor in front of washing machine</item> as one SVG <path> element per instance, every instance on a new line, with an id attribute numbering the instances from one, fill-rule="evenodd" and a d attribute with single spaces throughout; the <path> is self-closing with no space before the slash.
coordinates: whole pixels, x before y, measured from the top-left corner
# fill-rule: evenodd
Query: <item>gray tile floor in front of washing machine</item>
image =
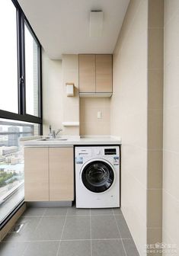
<path id="1" fill-rule="evenodd" d="M 139 256 L 120 209 L 28 208 L 1 256 Z"/>

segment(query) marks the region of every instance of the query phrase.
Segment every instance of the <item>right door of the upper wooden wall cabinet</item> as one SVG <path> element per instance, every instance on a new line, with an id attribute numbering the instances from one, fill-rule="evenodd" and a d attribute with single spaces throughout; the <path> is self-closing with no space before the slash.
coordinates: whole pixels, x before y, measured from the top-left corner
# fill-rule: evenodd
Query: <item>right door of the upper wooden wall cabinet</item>
<path id="1" fill-rule="evenodd" d="M 112 90 L 112 55 L 96 55 L 96 92 Z"/>

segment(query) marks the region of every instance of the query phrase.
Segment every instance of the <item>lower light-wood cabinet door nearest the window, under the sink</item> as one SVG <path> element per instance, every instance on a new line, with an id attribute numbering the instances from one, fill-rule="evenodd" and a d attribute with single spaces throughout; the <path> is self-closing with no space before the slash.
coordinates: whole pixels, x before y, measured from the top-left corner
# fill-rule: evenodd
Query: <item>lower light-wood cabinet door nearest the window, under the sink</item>
<path id="1" fill-rule="evenodd" d="M 24 148 L 24 199 L 49 201 L 48 148 Z"/>

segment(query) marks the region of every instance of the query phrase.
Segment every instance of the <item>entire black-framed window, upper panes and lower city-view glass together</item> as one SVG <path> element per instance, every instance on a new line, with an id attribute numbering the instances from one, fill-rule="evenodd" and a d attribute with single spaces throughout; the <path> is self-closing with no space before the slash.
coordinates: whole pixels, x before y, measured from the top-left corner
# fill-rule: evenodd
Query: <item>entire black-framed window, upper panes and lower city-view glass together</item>
<path id="1" fill-rule="evenodd" d="M 7 21 L 8 20 L 8 21 Z M 5 22 L 7 21 L 7 22 Z M 42 133 L 41 47 L 17 0 L 0 9 L 0 226 L 24 200 L 22 137 Z"/>

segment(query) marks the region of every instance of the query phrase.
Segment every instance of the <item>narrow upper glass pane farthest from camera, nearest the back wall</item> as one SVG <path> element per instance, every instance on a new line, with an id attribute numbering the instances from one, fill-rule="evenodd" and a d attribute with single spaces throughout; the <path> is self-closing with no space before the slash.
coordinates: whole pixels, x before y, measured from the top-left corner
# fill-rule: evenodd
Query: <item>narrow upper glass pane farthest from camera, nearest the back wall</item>
<path id="1" fill-rule="evenodd" d="M 25 24 L 26 113 L 39 116 L 38 45 Z"/>

